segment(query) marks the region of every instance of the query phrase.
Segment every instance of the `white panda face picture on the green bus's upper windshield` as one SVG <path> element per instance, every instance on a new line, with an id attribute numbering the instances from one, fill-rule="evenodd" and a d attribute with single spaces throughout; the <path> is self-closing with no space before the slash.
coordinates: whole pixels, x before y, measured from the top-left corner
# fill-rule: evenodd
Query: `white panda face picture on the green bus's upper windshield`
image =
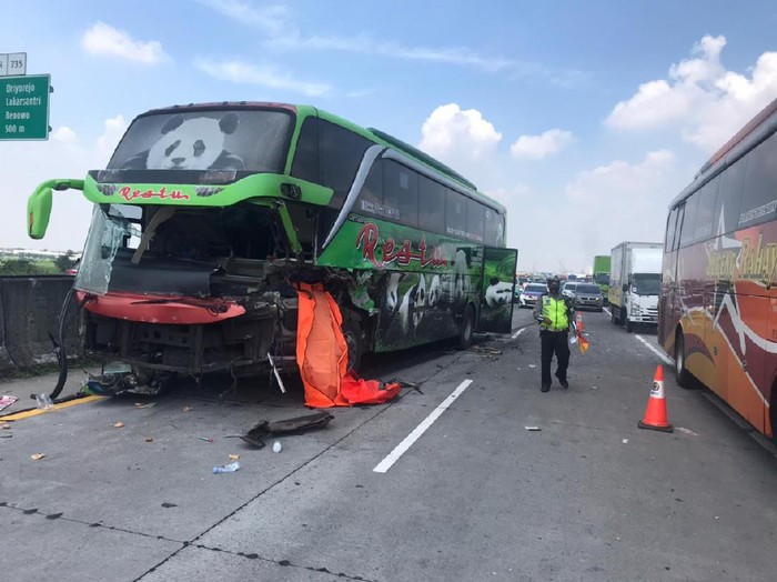
<path id="1" fill-rule="evenodd" d="M 154 170 L 208 170 L 221 167 L 224 139 L 238 128 L 238 116 L 222 119 L 173 116 L 162 127 L 162 137 L 149 150 L 147 168 Z"/>

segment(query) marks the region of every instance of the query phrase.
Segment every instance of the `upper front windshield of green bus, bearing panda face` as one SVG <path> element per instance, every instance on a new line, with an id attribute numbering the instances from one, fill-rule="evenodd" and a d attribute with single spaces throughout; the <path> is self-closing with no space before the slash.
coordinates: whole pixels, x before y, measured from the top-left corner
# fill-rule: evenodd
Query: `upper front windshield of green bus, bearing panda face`
<path id="1" fill-rule="evenodd" d="M 280 110 L 164 111 L 135 119 L 111 170 L 233 170 L 281 173 L 293 114 Z"/>

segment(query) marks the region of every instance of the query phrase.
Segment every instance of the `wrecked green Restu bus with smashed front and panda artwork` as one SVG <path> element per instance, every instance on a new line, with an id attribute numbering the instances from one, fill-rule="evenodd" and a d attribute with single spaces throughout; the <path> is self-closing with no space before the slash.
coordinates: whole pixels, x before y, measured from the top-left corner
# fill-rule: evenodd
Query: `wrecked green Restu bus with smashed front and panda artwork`
<path id="1" fill-rule="evenodd" d="M 135 118 L 108 167 L 52 190 L 93 202 L 74 279 L 85 348 L 172 373 L 295 365 L 300 282 L 336 301 L 349 365 L 367 351 L 507 333 L 517 251 L 505 209 L 420 150 L 310 106 L 206 103 Z"/>

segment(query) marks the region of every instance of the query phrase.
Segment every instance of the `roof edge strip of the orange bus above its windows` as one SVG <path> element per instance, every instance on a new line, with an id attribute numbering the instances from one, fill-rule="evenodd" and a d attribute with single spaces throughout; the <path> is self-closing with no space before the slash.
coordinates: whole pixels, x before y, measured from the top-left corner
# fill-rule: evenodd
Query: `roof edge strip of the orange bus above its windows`
<path id="1" fill-rule="evenodd" d="M 702 165 L 694 177 L 694 181 L 669 203 L 669 209 L 679 204 L 726 168 L 734 164 L 775 131 L 777 131 L 777 99 L 761 109 Z"/>

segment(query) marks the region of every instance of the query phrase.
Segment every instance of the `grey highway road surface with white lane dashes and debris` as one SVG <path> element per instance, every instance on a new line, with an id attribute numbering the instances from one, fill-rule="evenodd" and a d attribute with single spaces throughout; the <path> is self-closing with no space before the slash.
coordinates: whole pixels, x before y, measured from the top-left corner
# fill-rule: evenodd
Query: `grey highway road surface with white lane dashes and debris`
<path id="1" fill-rule="evenodd" d="M 516 308 L 512 337 L 466 352 L 370 358 L 365 375 L 417 389 L 335 409 L 326 429 L 279 439 L 280 453 L 230 438 L 304 412 L 299 387 L 268 379 L 225 401 L 229 382 L 213 379 L 13 421 L 0 429 L 2 578 L 771 579 L 774 448 L 706 390 L 677 388 L 668 365 L 676 431 L 637 429 L 664 363 L 655 331 L 584 321 L 592 348 L 573 351 L 569 390 L 539 392 L 537 330 Z M 240 471 L 212 474 L 230 454 Z"/>

